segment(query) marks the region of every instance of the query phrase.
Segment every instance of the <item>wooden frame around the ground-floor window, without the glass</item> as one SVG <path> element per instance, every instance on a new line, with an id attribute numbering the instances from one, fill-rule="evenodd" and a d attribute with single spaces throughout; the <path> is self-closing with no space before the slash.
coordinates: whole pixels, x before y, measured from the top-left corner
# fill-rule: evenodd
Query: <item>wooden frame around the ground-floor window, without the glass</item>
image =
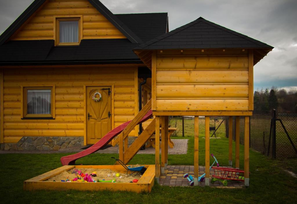
<path id="1" fill-rule="evenodd" d="M 51 90 L 50 91 L 50 114 L 27 114 L 27 90 Z M 21 119 L 55 119 L 56 99 L 55 85 L 53 86 L 25 86 L 21 87 Z"/>

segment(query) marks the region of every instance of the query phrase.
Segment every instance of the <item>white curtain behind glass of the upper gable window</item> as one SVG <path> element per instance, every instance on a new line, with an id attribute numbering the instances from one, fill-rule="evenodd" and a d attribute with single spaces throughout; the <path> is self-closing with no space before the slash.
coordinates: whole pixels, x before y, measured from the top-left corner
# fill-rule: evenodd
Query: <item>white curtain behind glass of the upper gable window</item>
<path id="1" fill-rule="evenodd" d="M 59 21 L 60 43 L 78 43 L 78 21 Z"/>

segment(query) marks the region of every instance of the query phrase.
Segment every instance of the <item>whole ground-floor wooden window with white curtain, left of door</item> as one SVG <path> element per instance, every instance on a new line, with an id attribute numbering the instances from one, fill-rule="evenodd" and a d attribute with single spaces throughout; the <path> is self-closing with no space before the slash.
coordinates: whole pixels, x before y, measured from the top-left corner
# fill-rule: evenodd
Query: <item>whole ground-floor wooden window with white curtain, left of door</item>
<path id="1" fill-rule="evenodd" d="M 23 87 L 22 93 L 22 118 L 54 118 L 54 87 Z"/>

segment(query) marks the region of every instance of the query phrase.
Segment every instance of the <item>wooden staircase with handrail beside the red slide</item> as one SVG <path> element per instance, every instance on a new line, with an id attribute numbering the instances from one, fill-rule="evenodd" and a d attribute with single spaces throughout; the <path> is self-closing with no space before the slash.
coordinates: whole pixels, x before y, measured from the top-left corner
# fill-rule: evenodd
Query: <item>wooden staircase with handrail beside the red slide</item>
<path id="1" fill-rule="evenodd" d="M 121 132 L 121 134 L 119 134 L 118 138 L 113 141 L 113 144 L 119 142 L 119 159 L 122 160 L 124 164 L 127 164 L 136 155 L 140 148 L 155 132 L 156 122 L 154 119 L 128 148 L 129 133 L 135 128 L 141 118 L 143 118 L 149 110 L 151 110 L 151 100 L 149 100 L 149 102 L 140 110 L 129 125 Z M 116 162 L 115 164 L 119 163 Z"/>

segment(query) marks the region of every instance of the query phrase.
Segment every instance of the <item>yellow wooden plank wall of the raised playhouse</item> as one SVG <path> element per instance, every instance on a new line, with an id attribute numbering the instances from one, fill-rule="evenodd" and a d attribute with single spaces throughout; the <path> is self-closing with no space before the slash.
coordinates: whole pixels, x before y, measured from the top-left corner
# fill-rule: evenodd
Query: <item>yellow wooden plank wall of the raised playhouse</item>
<path id="1" fill-rule="evenodd" d="M 155 110 L 249 110 L 248 51 L 203 51 L 156 51 Z"/>

